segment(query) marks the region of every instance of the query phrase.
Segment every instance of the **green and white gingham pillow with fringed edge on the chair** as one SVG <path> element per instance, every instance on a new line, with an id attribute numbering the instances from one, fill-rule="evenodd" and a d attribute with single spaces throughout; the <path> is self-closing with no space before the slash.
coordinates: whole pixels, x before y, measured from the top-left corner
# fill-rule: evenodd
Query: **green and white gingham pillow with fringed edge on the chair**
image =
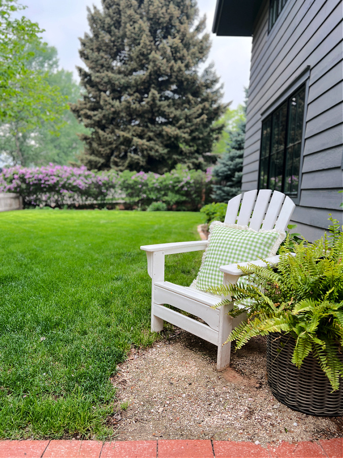
<path id="1" fill-rule="evenodd" d="M 275 229 L 256 232 L 248 226 L 213 221 L 202 265 L 191 287 L 207 291 L 223 283 L 220 266 L 264 259 L 276 254 L 285 232 Z"/>

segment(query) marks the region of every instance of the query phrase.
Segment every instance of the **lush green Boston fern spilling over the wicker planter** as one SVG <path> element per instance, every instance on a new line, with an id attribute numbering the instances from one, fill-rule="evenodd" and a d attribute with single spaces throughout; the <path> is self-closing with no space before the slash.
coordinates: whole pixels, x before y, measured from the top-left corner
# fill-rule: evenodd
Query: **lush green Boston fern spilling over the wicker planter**
<path id="1" fill-rule="evenodd" d="M 289 334 L 296 341 L 292 363 L 299 368 L 312 352 L 333 390 L 343 378 L 343 233 L 339 230 L 332 220 L 329 236 L 314 243 L 294 245 L 288 238 L 280 247 L 277 270 L 270 265 L 240 267 L 253 274 L 253 284 L 239 282 L 211 290 L 230 293 L 238 304 L 248 303 L 243 309 L 235 305 L 229 312 L 235 317 L 245 311 L 247 321 L 227 341 L 235 340 L 239 349 L 256 335 Z M 217 306 L 230 302 L 225 299 Z"/>

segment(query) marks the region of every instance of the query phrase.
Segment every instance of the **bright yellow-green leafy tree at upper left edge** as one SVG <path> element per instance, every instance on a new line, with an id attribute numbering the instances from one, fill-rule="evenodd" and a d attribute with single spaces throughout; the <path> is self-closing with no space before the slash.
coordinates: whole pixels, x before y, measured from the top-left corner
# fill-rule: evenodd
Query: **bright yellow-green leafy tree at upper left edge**
<path id="1" fill-rule="evenodd" d="M 0 7 L 0 121 L 2 134 L 14 138 L 18 163 L 24 165 L 19 138 L 56 121 L 68 106 L 58 88 L 46 81 L 45 73 L 29 66 L 33 48 L 42 45 L 38 24 L 25 17 L 13 18 L 22 9 L 16 0 L 2 0 Z"/>

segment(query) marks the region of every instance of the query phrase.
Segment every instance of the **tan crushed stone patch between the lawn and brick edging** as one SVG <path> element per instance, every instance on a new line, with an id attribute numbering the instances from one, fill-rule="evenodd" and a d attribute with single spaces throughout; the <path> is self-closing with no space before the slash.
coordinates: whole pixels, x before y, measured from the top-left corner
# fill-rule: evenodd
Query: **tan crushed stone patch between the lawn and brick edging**
<path id="1" fill-rule="evenodd" d="M 132 350 L 112 383 L 118 405 L 108 424 L 121 441 L 213 439 L 310 441 L 343 436 L 343 417 L 295 412 L 272 395 L 266 378 L 266 340 L 232 352 L 217 372 L 216 347 L 185 331 L 164 331 L 146 350 Z M 120 407 L 121 406 L 121 407 Z"/>

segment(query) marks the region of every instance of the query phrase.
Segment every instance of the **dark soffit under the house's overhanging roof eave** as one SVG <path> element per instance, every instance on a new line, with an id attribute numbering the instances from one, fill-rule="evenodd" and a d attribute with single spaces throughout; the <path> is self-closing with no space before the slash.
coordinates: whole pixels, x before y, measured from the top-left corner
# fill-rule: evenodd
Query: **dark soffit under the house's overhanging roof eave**
<path id="1" fill-rule="evenodd" d="M 250 37 L 263 0 L 217 0 L 212 32 L 221 36 Z"/>

